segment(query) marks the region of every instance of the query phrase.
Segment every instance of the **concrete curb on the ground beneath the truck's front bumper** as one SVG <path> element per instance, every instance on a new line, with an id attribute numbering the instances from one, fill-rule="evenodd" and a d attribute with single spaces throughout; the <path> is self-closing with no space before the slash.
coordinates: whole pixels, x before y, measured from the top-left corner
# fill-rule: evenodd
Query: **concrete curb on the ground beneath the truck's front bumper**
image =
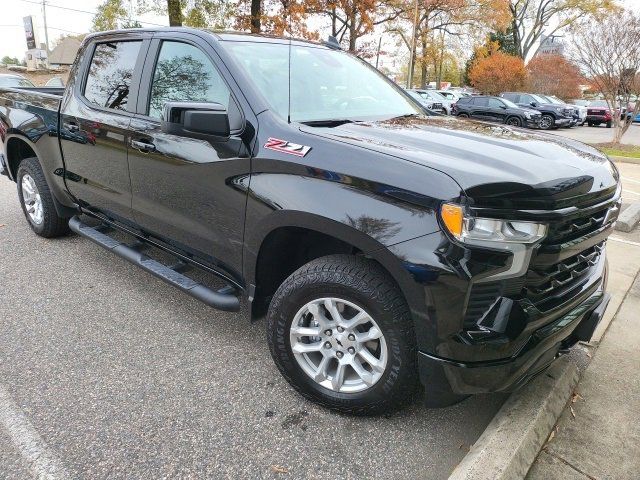
<path id="1" fill-rule="evenodd" d="M 529 385 L 513 393 L 449 480 L 524 478 L 578 380 L 576 365 L 562 357 Z"/>

